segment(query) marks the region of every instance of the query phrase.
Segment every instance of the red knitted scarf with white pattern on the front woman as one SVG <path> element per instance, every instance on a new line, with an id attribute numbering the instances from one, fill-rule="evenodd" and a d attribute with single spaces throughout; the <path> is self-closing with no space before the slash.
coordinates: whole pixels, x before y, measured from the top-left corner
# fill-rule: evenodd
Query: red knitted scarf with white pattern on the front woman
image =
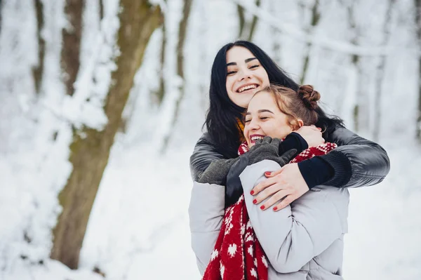
<path id="1" fill-rule="evenodd" d="M 327 154 L 335 147 L 338 146 L 333 143 L 309 147 L 290 161 L 290 164 Z M 239 154 L 246 152 L 248 146 L 243 142 L 239 147 Z M 239 201 L 225 210 L 220 234 L 203 280 L 267 280 L 267 267 L 265 252 L 255 236 L 244 196 L 241 195 Z"/>

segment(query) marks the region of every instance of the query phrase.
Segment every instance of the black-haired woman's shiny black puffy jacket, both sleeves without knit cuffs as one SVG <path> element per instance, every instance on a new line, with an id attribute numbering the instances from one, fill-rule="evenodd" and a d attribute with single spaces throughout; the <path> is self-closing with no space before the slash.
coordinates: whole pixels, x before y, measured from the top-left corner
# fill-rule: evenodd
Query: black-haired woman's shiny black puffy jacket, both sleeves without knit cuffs
<path id="1" fill-rule="evenodd" d="M 319 156 L 319 159 L 326 161 L 334 171 L 333 177 L 323 182 L 323 185 L 333 187 L 375 185 L 382 182 L 389 173 L 389 157 L 385 149 L 343 126 L 336 126 L 326 142 L 334 142 L 339 147 L 329 154 Z M 299 152 L 302 150 L 299 147 L 295 148 Z M 203 134 L 190 157 L 193 180 L 197 180 L 198 175 L 206 170 L 211 161 L 222 158 L 210 136 L 207 133 Z"/>

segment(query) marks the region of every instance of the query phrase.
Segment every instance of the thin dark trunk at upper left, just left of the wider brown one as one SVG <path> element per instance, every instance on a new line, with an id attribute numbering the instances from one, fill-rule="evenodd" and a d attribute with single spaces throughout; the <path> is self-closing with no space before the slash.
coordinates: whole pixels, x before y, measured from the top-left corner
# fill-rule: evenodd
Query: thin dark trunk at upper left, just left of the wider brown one
<path id="1" fill-rule="evenodd" d="M 44 72 L 44 56 L 46 53 L 46 41 L 41 36 L 44 28 L 44 5 L 41 0 L 35 0 L 36 11 L 36 36 L 38 37 L 38 65 L 32 68 L 36 93 L 41 91 L 42 73 Z"/>

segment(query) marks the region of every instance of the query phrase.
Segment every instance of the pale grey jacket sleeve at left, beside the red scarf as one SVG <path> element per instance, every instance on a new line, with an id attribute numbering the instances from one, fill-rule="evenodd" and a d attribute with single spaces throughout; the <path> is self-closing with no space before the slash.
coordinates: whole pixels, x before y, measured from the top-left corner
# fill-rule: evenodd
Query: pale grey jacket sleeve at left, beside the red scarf
<path id="1" fill-rule="evenodd" d="M 201 275 L 210 261 L 224 218 L 225 187 L 194 182 L 189 204 L 192 248 Z"/>

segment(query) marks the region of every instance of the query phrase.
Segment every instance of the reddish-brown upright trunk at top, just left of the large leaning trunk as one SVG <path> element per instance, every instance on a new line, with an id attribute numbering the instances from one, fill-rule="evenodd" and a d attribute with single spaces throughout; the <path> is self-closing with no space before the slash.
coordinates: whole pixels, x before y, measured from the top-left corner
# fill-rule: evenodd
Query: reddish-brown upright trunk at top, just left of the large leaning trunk
<path id="1" fill-rule="evenodd" d="M 63 47 L 61 53 L 61 67 L 63 82 L 68 95 L 74 93 L 74 82 L 79 72 L 79 54 L 82 36 L 83 0 L 67 0 L 65 15 L 70 26 L 62 30 Z"/>

